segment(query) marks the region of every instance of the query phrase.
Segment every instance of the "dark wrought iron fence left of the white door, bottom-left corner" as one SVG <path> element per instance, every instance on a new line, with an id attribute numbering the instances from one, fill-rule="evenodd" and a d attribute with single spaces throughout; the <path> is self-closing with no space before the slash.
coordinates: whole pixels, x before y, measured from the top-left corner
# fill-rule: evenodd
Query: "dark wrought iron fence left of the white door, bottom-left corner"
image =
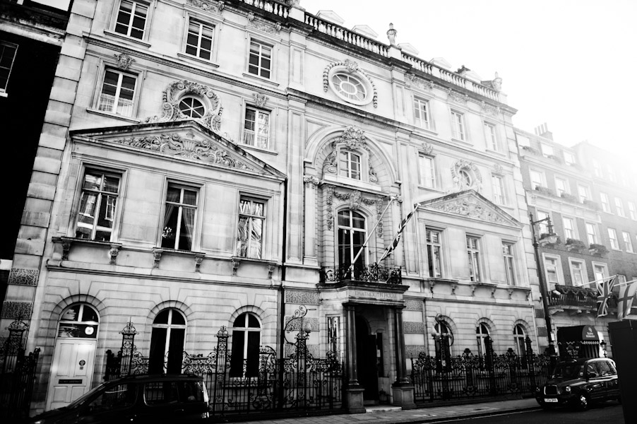
<path id="1" fill-rule="evenodd" d="M 0 420 L 28 416 L 40 349 L 25 355 L 23 334 L 28 328 L 20 318 L 7 327 L 9 336 L 0 346 Z"/>

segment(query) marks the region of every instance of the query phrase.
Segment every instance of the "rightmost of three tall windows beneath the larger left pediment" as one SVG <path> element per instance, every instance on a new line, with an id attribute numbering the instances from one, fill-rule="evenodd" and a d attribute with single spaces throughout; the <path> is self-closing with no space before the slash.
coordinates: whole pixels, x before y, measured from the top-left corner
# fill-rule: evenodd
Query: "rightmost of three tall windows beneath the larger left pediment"
<path id="1" fill-rule="evenodd" d="M 239 231 L 237 257 L 262 259 L 263 229 L 266 223 L 266 202 L 242 197 L 239 201 Z"/>

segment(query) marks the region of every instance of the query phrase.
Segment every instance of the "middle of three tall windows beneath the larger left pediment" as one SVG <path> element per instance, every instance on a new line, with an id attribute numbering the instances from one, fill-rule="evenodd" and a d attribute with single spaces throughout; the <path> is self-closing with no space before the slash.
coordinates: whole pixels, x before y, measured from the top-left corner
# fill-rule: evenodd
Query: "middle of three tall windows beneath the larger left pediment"
<path id="1" fill-rule="evenodd" d="M 162 247 L 191 250 L 195 230 L 198 191 L 193 187 L 168 184 Z"/>

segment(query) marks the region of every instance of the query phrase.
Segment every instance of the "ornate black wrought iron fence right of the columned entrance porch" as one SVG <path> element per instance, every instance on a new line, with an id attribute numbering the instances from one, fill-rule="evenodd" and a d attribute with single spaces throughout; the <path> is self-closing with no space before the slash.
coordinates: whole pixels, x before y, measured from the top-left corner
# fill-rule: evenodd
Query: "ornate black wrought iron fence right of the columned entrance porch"
<path id="1" fill-rule="evenodd" d="M 438 341 L 436 356 L 421 352 L 417 359 L 411 358 L 415 401 L 534 394 L 535 387 L 548 379 L 550 358 L 533 353 L 530 338 L 527 337 L 525 343 L 523 356 L 511 348 L 503 355 L 496 355 L 493 341 L 487 337 L 484 355 L 474 355 L 465 349 L 462 355 L 447 359 L 444 341 Z"/>

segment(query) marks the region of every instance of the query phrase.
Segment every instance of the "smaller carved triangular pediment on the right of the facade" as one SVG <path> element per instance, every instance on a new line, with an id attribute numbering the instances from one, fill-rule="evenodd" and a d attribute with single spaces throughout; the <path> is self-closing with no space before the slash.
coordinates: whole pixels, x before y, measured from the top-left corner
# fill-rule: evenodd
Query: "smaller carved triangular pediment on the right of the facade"
<path id="1" fill-rule="evenodd" d="M 522 228 L 522 224 L 474 190 L 448 194 L 420 202 L 420 208 L 489 223 Z"/>

